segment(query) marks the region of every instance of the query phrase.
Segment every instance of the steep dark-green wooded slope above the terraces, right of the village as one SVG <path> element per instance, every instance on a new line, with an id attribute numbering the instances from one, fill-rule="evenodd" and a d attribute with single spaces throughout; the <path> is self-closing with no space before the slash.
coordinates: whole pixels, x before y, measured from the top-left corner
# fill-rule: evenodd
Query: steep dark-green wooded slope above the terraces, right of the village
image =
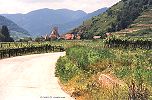
<path id="1" fill-rule="evenodd" d="M 104 36 L 107 32 L 120 31 L 133 24 L 151 5 L 151 0 L 122 0 L 105 13 L 85 21 L 72 32 L 88 39 L 94 35 Z"/>

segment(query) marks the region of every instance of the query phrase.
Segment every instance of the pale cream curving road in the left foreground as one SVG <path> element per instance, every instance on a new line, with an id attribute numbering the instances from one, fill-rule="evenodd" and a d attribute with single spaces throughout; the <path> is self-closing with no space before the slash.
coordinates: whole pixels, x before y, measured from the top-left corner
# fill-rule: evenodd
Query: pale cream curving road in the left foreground
<path id="1" fill-rule="evenodd" d="M 0 100 L 73 100 L 54 75 L 65 53 L 48 53 L 0 60 Z"/>

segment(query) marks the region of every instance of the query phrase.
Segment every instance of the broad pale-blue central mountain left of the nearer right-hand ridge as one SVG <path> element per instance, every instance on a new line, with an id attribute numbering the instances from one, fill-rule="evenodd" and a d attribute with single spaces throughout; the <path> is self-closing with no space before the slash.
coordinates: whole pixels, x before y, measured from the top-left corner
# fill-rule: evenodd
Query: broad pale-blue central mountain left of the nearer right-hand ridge
<path id="1" fill-rule="evenodd" d="M 40 9 L 27 14 L 3 14 L 19 26 L 28 30 L 31 35 L 44 35 L 51 28 L 59 24 L 65 24 L 86 16 L 83 11 L 72 11 L 68 9 Z"/>

